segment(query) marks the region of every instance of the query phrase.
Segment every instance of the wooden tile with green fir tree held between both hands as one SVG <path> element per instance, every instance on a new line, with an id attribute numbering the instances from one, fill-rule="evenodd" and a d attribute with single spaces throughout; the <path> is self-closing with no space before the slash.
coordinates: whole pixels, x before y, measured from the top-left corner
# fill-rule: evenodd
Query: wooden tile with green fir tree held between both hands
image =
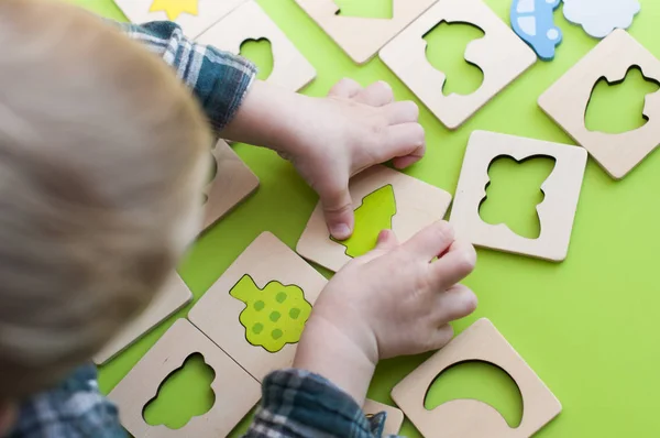
<path id="1" fill-rule="evenodd" d="M 451 204 L 451 195 L 447 191 L 378 165 L 367 168 L 351 179 L 349 189 L 353 198 L 353 208 L 360 208 L 370 194 L 388 185 L 394 189 L 395 198 L 395 215 L 391 219 L 392 230 L 400 242 L 405 242 L 418 231 L 441 220 Z M 386 215 L 389 213 L 388 210 L 389 207 L 386 206 Z M 386 223 L 383 222 L 383 225 Z M 358 226 L 356 223 L 355 233 L 361 232 Z M 374 230 L 373 227 L 366 228 L 366 238 L 371 240 L 371 248 L 369 248 L 369 242 L 360 242 L 356 247 L 359 253 L 365 249 L 373 249 L 380 231 Z M 355 241 L 366 238 L 354 236 L 352 239 Z M 298 240 L 296 251 L 305 259 L 337 272 L 352 260 L 346 253 L 346 242 L 338 242 L 330 238 L 323 208 L 319 202 Z"/>

